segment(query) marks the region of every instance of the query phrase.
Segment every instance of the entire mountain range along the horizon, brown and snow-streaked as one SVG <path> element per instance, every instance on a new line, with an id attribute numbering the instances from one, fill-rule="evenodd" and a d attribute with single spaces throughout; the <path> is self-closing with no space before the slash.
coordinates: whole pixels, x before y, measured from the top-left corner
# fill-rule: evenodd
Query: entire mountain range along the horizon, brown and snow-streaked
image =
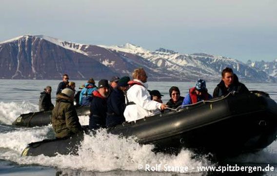
<path id="1" fill-rule="evenodd" d="M 242 63 L 205 53 L 180 54 L 159 48 L 150 51 L 134 44 L 104 46 L 24 35 L 0 42 L 0 78 L 71 79 L 130 76 L 143 67 L 152 81 L 219 81 L 221 70 L 232 67 L 240 80 L 277 82 L 277 60 Z M 267 65 L 267 66 L 266 66 Z"/>

